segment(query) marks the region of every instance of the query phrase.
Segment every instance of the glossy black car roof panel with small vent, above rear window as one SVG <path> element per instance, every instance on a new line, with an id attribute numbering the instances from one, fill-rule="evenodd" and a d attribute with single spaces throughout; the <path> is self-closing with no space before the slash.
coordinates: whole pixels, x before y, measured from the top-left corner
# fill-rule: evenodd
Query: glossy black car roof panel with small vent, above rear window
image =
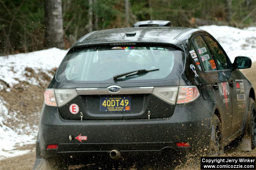
<path id="1" fill-rule="evenodd" d="M 192 29 L 183 27 L 131 27 L 93 31 L 78 40 L 78 44 L 92 42 L 144 42 L 149 39 L 175 39 L 181 32 Z M 78 45 L 77 44 L 77 45 Z"/>

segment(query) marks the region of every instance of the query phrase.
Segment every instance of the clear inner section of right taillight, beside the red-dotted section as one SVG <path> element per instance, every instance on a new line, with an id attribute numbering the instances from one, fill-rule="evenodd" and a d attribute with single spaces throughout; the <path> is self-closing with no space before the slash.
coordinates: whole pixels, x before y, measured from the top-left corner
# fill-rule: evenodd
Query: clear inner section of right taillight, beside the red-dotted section
<path id="1" fill-rule="evenodd" d="M 153 94 L 166 101 L 167 103 L 175 104 L 178 87 L 155 87 Z"/>

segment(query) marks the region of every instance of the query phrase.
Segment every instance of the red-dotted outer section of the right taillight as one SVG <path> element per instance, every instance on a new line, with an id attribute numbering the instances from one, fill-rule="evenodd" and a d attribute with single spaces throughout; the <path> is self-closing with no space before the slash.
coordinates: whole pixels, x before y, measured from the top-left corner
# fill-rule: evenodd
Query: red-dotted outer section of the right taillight
<path id="1" fill-rule="evenodd" d="M 189 103 L 200 96 L 196 86 L 180 86 L 177 104 Z"/>

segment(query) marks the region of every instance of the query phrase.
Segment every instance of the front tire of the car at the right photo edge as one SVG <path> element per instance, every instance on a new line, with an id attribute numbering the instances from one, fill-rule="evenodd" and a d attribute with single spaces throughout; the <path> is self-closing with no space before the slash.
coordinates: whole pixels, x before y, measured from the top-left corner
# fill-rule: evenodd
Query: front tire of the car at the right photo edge
<path id="1" fill-rule="evenodd" d="M 251 148 L 256 146 L 256 106 L 252 98 L 249 98 L 247 133 L 251 137 Z"/>

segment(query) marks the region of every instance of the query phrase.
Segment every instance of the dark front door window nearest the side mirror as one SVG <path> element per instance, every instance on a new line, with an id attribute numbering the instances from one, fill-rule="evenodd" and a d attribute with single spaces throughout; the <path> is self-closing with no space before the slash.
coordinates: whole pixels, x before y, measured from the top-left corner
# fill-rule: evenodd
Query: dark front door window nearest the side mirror
<path id="1" fill-rule="evenodd" d="M 204 38 L 205 38 L 205 41 L 209 44 L 209 48 L 211 49 L 211 51 L 215 56 L 218 69 L 219 70 L 230 69 L 227 63 L 226 56 L 222 51 L 222 49 L 220 48 L 220 46 L 213 39 L 211 39 L 211 37 L 204 36 Z"/>

